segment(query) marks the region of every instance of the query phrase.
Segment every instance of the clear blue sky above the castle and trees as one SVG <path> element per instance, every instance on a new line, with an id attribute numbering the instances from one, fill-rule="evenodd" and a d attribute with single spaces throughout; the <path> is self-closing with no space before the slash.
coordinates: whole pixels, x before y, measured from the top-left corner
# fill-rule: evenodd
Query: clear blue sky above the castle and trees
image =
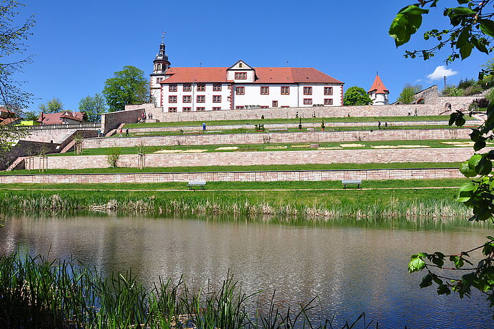
<path id="1" fill-rule="evenodd" d="M 87 95 L 101 93 L 104 82 L 125 65 L 148 76 L 165 34 L 172 66 L 314 67 L 351 86 L 371 86 L 376 71 L 394 101 L 410 82 L 425 88 L 445 65 L 447 50 L 432 60 L 405 59 L 405 49 L 422 49 L 427 27 L 446 27 L 443 8 L 427 17 L 410 44 L 396 49 L 388 28 L 408 1 L 67 1 L 29 0 L 23 14 L 34 13 L 36 26 L 27 40 L 34 62 L 19 79 L 36 97 L 30 110 L 52 97 L 64 108 L 78 108 Z M 439 5 L 456 1 L 440 1 Z M 434 25 L 431 25 L 434 23 Z M 480 53 L 447 69 L 456 84 L 477 77 L 489 56 Z"/>

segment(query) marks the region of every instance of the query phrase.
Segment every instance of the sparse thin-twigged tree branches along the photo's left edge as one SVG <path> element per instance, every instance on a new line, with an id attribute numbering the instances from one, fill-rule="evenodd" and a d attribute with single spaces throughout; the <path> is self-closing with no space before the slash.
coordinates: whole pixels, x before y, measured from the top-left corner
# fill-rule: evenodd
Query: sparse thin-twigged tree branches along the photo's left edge
<path id="1" fill-rule="evenodd" d="M 26 51 L 24 40 L 31 35 L 30 29 L 34 26 L 33 16 L 25 21 L 12 25 L 17 9 L 23 4 L 14 0 L 3 0 L 0 3 L 0 103 L 3 108 L 14 112 L 21 117 L 21 109 L 31 102 L 32 94 L 21 89 L 22 82 L 14 76 L 22 71 L 32 60 L 30 56 L 21 58 Z M 0 126 L 0 158 L 5 156 L 12 147 L 12 141 L 26 136 L 27 131 L 12 125 Z"/>

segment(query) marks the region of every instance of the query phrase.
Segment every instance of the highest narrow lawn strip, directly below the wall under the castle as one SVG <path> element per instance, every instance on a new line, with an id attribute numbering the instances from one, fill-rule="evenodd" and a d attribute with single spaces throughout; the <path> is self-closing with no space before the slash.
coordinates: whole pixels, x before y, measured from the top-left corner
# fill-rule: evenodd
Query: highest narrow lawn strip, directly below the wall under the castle
<path id="1" fill-rule="evenodd" d="M 474 118 L 468 118 L 475 120 Z M 449 115 L 430 115 L 417 117 L 331 117 L 331 118 L 303 118 L 302 123 L 325 123 L 329 122 L 394 122 L 394 121 L 449 121 Z M 155 127 L 185 127 L 206 125 L 257 125 L 270 123 L 296 123 L 299 119 L 250 119 L 250 120 L 215 120 L 215 121 L 174 121 L 174 122 L 153 122 L 153 123 L 127 123 L 124 128 L 155 128 Z"/>

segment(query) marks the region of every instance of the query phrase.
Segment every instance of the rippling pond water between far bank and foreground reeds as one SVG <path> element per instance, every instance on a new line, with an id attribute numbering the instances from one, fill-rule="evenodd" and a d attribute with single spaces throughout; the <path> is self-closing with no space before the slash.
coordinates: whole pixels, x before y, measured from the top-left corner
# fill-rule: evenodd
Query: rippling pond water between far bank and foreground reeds
<path id="1" fill-rule="evenodd" d="M 279 305 L 320 297 L 325 317 L 365 312 L 379 328 L 494 328 L 484 296 L 460 300 L 419 288 L 425 273 L 408 274 L 416 252 L 458 253 L 484 243 L 487 226 L 451 221 L 345 221 L 283 225 L 262 219 L 217 220 L 125 215 L 9 215 L 0 254 L 20 249 L 54 258 L 73 256 L 89 267 L 132 269 L 146 284 L 158 276 L 197 287 L 221 284 L 228 271 L 246 292 L 276 291 Z M 340 328 L 340 327 L 338 327 Z"/>

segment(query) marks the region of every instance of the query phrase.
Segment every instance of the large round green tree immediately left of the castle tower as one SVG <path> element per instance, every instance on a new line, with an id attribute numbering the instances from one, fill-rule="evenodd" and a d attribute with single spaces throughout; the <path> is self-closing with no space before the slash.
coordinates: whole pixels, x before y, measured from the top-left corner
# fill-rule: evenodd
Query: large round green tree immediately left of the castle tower
<path id="1" fill-rule="evenodd" d="M 103 95 L 110 111 L 125 110 L 126 104 L 145 103 L 149 99 L 148 80 L 134 66 L 124 66 L 105 82 Z"/>

